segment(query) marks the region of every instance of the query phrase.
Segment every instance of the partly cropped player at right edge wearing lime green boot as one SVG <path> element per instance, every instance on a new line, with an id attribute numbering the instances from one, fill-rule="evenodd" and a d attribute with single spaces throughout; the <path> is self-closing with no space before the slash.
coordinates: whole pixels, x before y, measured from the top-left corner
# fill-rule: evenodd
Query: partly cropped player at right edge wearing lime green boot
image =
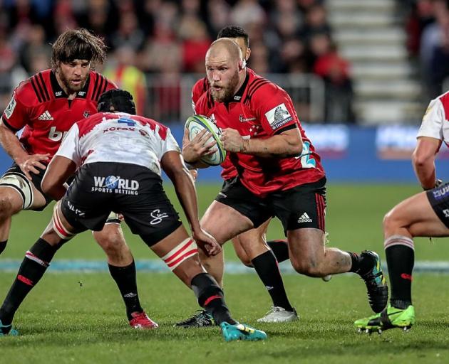
<path id="1" fill-rule="evenodd" d="M 390 304 L 381 314 L 355 322 L 360 331 L 407 330 L 415 323 L 411 299 L 415 246 L 413 237 L 449 236 L 449 183 L 436 178 L 435 157 L 449 143 L 449 92 L 430 102 L 413 151 L 413 168 L 421 192 L 398 203 L 383 219 L 383 247 L 390 279 Z"/>

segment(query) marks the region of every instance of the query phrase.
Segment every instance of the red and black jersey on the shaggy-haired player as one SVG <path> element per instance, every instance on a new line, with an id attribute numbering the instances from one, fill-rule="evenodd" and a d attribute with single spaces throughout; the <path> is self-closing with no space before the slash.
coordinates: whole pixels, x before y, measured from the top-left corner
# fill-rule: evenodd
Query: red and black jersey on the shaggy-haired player
<path id="1" fill-rule="evenodd" d="M 14 132 L 24 128 L 20 141 L 29 154 L 53 156 L 68 129 L 97 112 L 98 98 L 117 88 L 100 73 L 91 71 L 86 85 L 73 100 L 63 91 L 51 70 L 36 73 L 14 90 L 2 118 Z"/>

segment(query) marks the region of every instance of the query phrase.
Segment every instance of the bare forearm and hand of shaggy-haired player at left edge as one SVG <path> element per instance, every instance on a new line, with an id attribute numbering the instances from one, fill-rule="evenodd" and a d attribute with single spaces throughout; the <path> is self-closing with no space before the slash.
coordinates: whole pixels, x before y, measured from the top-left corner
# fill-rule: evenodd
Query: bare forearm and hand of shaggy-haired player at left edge
<path id="1" fill-rule="evenodd" d="M 50 154 L 28 154 L 20 144 L 16 133 L 5 124 L 3 117 L 0 119 L 0 144 L 29 180 L 31 180 L 30 172 L 38 174 L 36 167 L 45 169 L 46 166 L 41 161 L 50 159 Z"/>

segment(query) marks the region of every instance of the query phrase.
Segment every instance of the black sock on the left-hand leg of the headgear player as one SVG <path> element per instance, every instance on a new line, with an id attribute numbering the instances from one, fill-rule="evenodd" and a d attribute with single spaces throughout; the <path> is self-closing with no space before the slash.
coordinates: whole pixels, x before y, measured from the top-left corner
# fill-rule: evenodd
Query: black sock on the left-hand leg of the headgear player
<path id="1" fill-rule="evenodd" d="M 1 323 L 11 324 L 17 309 L 29 291 L 39 282 L 57 250 L 58 247 L 53 247 L 45 240 L 38 239 L 26 252 L 17 277 L 0 308 Z"/>

